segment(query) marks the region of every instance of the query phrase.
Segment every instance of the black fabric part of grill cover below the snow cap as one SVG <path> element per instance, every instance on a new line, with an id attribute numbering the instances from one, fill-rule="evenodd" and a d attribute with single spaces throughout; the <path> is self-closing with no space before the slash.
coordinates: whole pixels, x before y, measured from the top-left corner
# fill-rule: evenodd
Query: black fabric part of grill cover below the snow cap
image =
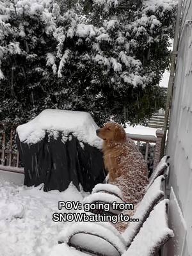
<path id="1" fill-rule="evenodd" d="M 72 182 L 77 189 L 81 184 L 84 191 L 92 191 L 95 184 L 103 182 L 102 152 L 88 143 L 80 143 L 72 134 L 69 136 L 70 140 L 63 143 L 61 132 L 55 139 L 47 131 L 44 140 L 28 145 L 21 142 L 17 134 L 20 160 L 24 166 L 24 185 L 44 183 L 44 191 L 63 191 Z"/>

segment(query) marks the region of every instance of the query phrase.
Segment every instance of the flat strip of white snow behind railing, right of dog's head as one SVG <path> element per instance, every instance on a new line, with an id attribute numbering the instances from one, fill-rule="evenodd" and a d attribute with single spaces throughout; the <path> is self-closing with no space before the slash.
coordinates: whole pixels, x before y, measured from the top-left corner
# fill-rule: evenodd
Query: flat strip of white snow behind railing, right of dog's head
<path id="1" fill-rule="evenodd" d="M 143 125 L 136 125 L 134 127 L 127 125 L 125 128 L 125 131 L 127 133 L 132 133 L 132 134 L 143 134 L 143 135 L 154 135 L 156 136 L 156 128 L 151 128 Z"/>

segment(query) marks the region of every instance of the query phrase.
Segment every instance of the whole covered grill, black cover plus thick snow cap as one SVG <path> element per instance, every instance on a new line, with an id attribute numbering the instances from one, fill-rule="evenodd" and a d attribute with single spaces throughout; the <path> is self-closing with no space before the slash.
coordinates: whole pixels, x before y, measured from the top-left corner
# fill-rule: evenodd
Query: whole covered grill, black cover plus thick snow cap
<path id="1" fill-rule="evenodd" d="M 17 146 L 26 186 L 44 183 L 44 191 L 63 191 L 72 181 L 92 191 L 105 177 L 102 140 L 89 113 L 45 109 L 17 127 Z"/>

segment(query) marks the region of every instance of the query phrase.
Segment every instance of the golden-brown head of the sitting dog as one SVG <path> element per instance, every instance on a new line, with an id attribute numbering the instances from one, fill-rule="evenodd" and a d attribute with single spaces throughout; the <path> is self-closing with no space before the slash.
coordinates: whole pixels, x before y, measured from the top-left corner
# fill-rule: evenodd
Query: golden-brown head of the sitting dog
<path id="1" fill-rule="evenodd" d="M 122 142 L 126 140 L 126 133 L 122 125 L 109 122 L 104 127 L 97 129 L 97 136 L 104 141 Z"/>

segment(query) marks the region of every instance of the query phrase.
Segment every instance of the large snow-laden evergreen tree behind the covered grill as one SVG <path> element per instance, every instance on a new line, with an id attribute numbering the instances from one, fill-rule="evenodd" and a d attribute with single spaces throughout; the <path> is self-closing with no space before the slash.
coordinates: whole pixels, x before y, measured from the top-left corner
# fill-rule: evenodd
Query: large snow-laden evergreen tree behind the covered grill
<path id="1" fill-rule="evenodd" d="M 138 123 L 163 107 L 171 0 L 0 1 L 1 120 L 45 108 Z"/>

